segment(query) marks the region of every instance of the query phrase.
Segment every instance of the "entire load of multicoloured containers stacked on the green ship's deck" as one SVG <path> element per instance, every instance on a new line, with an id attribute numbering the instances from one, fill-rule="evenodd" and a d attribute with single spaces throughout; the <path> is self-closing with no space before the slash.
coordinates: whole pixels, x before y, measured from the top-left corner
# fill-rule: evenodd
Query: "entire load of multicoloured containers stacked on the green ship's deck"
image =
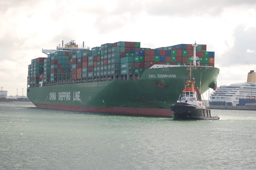
<path id="1" fill-rule="evenodd" d="M 200 66 L 214 67 L 214 52 L 198 45 L 196 56 Z M 140 42 L 119 41 L 89 49 L 70 49 L 49 54 L 44 61 L 32 60 L 28 84 L 37 84 L 43 71 L 43 82 L 57 82 L 105 76 L 137 77 L 154 64 L 187 65 L 194 55 L 192 44 L 178 44 L 157 49 L 141 48 Z M 41 63 L 39 63 L 41 62 Z M 33 71 L 33 72 L 32 72 Z M 35 74 L 34 74 L 35 71 Z M 112 77 L 113 78 L 113 77 Z M 34 80 L 35 79 L 35 80 Z"/>

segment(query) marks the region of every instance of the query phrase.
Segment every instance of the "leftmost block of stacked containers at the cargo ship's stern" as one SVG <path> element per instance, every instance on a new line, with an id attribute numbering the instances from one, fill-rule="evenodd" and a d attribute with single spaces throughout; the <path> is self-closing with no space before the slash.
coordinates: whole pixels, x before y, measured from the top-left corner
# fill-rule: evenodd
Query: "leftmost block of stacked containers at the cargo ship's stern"
<path id="1" fill-rule="evenodd" d="M 31 64 L 28 67 L 28 85 L 39 84 L 39 82 L 43 80 L 44 59 L 45 58 L 35 58 L 31 60 Z"/>

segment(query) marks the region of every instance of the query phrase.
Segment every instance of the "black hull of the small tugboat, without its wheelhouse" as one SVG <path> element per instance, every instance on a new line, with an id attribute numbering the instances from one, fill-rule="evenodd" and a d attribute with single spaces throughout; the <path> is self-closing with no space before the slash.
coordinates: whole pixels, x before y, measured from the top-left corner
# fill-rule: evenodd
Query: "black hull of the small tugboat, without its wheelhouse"
<path id="1" fill-rule="evenodd" d="M 198 108 L 188 103 L 175 103 L 171 106 L 173 120 L 218 120 L 217 115 L 211 115 L 210 109 Z"/>

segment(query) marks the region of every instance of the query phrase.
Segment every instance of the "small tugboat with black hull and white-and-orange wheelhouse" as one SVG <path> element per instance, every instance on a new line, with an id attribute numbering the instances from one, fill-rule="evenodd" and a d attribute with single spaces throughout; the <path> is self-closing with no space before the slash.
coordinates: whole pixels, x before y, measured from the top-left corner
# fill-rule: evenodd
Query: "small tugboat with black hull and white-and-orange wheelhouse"
<path id="1" fill-rule="evenodd" d="M 196 43 L 194 46 L 197 46 Z M 195 78 L 192 78 L 192 66 L 196 66 L 194 50 L 193 63 L 188 63 L 189 78 L 186 77 L 185 88 L 180 95 L 177 103 L 171 106 L 173 112 L 173 120 L 219 120 L 218 115 L 212 115 L 211 110 L 206 108 L 201 100 L 201 93 L 198 88 L 195 88 Z"/>

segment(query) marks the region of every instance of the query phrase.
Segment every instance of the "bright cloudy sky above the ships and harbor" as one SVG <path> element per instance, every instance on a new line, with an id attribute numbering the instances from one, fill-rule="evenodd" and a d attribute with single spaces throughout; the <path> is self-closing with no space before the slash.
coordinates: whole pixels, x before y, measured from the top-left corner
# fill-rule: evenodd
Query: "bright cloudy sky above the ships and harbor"
<path id="1" fill-rule="evenodd" d="M 151 49 L 196 40 L 215 52 L 218 86 L 256 71 L 255 0 L 0 0 L 0 18 L 0 87 L 8 96 L 26 95 L 31 60 L 62 40 Z"/>

